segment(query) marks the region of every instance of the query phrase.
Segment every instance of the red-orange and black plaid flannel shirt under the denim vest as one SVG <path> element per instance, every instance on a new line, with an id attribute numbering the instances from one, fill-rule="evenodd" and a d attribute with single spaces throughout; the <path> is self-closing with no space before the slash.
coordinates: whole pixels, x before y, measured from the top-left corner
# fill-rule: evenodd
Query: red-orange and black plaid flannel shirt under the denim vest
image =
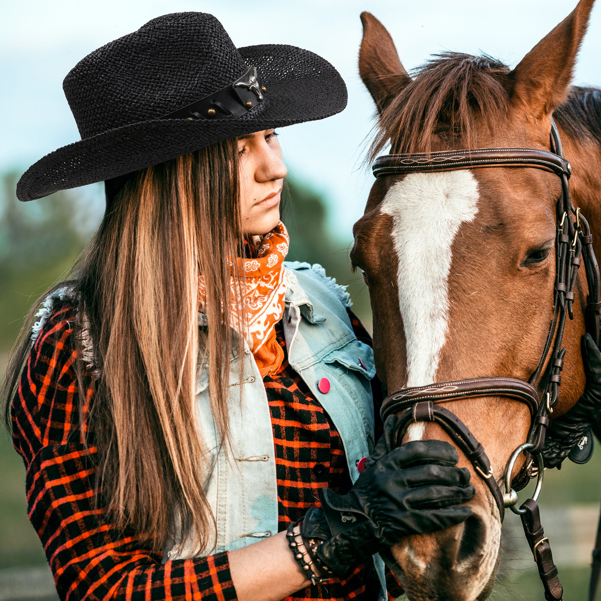
<path id="1" fill-rule="evenodd" d="M 351 314 L 361 340 L 367 332 Z M 227 553 L 161 563 L 145 539 L 102 519 L 94 504 L 94 453 L 79 427 L 79 395 L 89 406 L 93 379 L 80 391 L 72 343 L 75 310 L 63 305 L 46 320 L 23 370 L 12 405 L 13 444 L 26 467 L 29 519 L 61 599 L 236 599 Z M 278 340 L 285 347 L 281 324 Z M 279 529 L 319 504 L 317 490 L 344 492 L 350 478 L 340 436 L 287 360 L 265 386 L 278 478 Z M 376 411 L 377 413 L 377 411 Z M 395 582 L 389 583 L 394 587 Z M 373 566 L 346 579 L 307 587 L 288 599 L 376 600 Z M 394 593 L 395 591 L 391 591 Z M 398 592 L 398 590 L 397 590 Z"/>

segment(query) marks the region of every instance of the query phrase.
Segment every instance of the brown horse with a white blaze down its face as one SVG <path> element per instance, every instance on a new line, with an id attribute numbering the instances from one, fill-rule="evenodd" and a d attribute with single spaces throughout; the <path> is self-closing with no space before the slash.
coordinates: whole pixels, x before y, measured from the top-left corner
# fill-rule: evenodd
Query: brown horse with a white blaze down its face
<path id="1" fill-rule="evenodd" d="M 601 91 L 570 87 L 594 0 L 543 38 L 513 70 L 489 56 L 444 53 L 410 76 L 388 31 L 369 13 L 359 73 L 376 103 L 375 156 L 465 148 L 549 150 L 551 118 L 601 256 Z M 554 299 L 555 204 L 560 179 L 534 168 L 480 168 L 389 175 L 376 180 L 355 224 L 352 263 L 370 289 L 374 351 L 388 391 L 479 376 L 528 380 L 537 367 Z M 587 282 L 579 274 L 560 403 L 584 389 L 580 341 Z M 526 441 L 528 408 L 510 398 L 443 403 L 483 444 L 495 477 Z M 451 442 L 434 423 L 413 424 L 404 442 Z M 392 549 L 412 600 L 486 599 L 500 558 L 499 510 L 472 472 L 477 495 L 465 524 L 409 537 Z M 516 469 L 519 465 L 516 466 Z M 514 472 L 516 473 L 516 472 Z"/>

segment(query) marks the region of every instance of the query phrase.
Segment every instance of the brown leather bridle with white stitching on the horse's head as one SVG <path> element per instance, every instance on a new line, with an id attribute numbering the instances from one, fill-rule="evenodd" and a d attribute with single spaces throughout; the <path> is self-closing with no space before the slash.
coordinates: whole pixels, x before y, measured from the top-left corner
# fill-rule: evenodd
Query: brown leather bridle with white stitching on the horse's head
<path id="1" fill-rule="evenodd" d="M 447 432 L 489 487 L 499 508 L 501 521 L 505 507 L 510 507 L 514 513 L 522 517 L 526 538 L 545 585 L 545 597 L 549 601 L 559 601 L 563 589 L 557 578 L 557 568 L 553 563 L 549 541 L 545 538 L 540 525 L 535 501 L 542 486 L 544 468 L 542 450 L 545 444 L 545 433 L 549 426 L 550 414 L 559 398 L 560 374 L 566 353 L 566 349 L 562 348 L 564 327 L 567 317 L 573 319 L 574 288 L 581 262 L 584 262 L 588 283 L 586 329 L 597 345 L 599 345 L 601 283 L 590 227 L 580 213 L 580 209 L 573 206 L 570 196 L 568 179 L 572 169 L 570 163 L 563 157 L 557 126 L 552 121 L 551 151 L 532 148 L 478 148 L 430 154 L 386 154 L 377 157 L 372 169 L 376 177 L 383 177 L 412 172 L 482 167 L 532 167 L 550 171 L 561 179 L 561 197 L 557 202 L 553 317 L 540 361 L 528 382 L 506 377 L 479 377 L 402 388 L 384 399 L 380 414 L 384 421 L 392 414 L 397 416 L 393 437 L 397 445 L 401 444 L 409 426 L 413 423 L 435 422 Z M 531 415 L 527 441 L 514 451 L 505 468 L 505 474 L 499 478 L 502 480 L 502 476 L 505 476 L 505 493 L 502 493 L 499 488 L 490 461 L 480 442 L 453 412 L 439 406 L 442 402 L 490 396 L 513 398 L 525 403 Z M 522 471 L 512 482 L 513 466 L 522 453 L 529 455 L 526 457 Z M 534 459 L 537 462 L 535 474 L 538 477 L 535 494 L 520 508 L 516 508 L 516 490 L 525 487 L 530 477 L 534 476 L 532 469 Z M 516 490 L 511 488 L 511 485 Z"/>

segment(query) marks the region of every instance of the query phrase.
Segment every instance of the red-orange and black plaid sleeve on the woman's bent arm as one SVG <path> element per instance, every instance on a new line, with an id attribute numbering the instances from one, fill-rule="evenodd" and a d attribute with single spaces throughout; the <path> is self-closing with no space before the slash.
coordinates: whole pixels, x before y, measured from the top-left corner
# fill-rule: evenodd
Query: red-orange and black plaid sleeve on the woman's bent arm
<path id="1" fill-rule="evenodd" d="M 23 370 L 11 415 L 26 468 L 29 519 L 63 600 L 236 599 L 227 553 L 160 563 L 133 531 L 102 519 L 94 502 L 96 448 L 79 430 L 79 390 L 69 344 L 73 308 L 50 316 Z M 93 394 L 90 378 L 86 403 Z"/>

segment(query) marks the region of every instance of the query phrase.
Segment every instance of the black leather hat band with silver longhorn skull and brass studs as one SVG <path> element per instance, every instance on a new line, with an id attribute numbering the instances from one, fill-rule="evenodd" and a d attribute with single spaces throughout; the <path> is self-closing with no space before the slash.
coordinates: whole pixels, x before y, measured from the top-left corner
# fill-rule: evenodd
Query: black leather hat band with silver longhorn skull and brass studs
<path id="1" fill-rule="evenodd" d="M 239 79 L 209 96 L 196 100 L 163 119 L 237 119 L 242 117 L 265 99 L 267 88 L 257 80 L 257 68 L 250 67 Z"/>

